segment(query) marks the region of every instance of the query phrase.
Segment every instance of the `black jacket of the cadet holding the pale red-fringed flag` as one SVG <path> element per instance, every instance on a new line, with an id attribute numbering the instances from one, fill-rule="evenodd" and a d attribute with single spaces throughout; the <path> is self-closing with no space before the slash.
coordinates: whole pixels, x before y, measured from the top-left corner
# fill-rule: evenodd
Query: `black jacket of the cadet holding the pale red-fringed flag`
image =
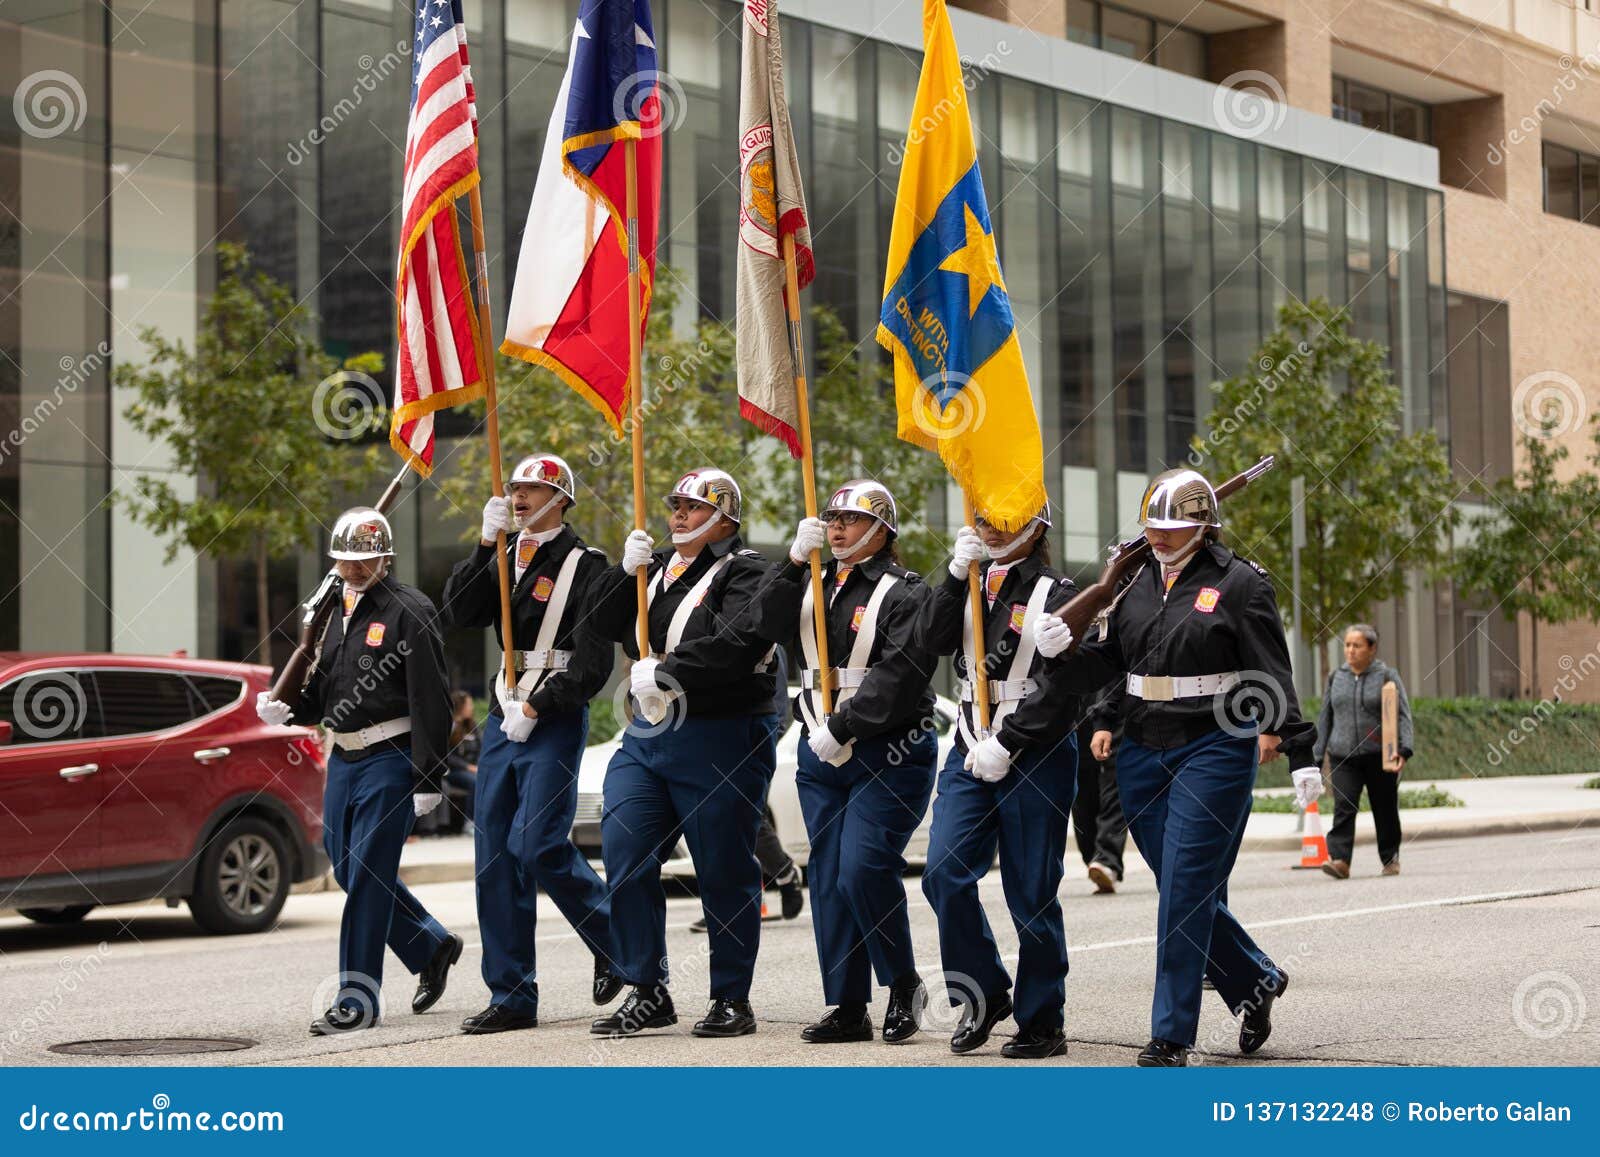
<path id="1" fill-rule="evenodd" d="M 850 661 L 861 626 L 859 616 L 866 613 L 872 591 L 885 573 L 899 574 L 901 581 L 890 587 L 878 607 L 877 637 L 867 655 L 870 671 L 848 701 L 835 701 L 834 714 L 827 720 L 827 730 L 840 743 L 870 739 L 886 731 L 906 733 L 915 730 L 918 720 L 933 719 L 933 691 L 928 683 L 933 680 L 939 656 L 917 647 L 912 639 L 917 616 L 931 595 L 928 586 L 914 571 L 891 560 L 886 549 L 856 563 L 837 594 L 834 578 L 838 574 L 838 563 L 830 558 L 822 566 L 827 661 L 835 667 L 843 667 Z M 752 605 L 755 634 L 786 645 L 792 656 L 805 655 L 800 632 L 810 635 L 814 631 L 810 619 L 800 621 L 800 600 L 810 584 L 811 565 L 797 566 L 792 558 L 786 560 L 773 571 Z M 798 704 L 795 717 L 805 720 Z"/>

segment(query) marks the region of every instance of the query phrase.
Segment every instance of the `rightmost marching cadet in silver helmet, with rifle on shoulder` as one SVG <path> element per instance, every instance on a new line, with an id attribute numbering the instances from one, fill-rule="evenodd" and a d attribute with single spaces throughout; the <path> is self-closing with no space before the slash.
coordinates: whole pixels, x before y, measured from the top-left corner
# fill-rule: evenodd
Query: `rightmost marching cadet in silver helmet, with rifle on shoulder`
<path id="1" fill-rule="evenodd" d="M 1301 799 L 1315 799 L 1322 771 L 1309 767 L 1315 728 L 1299 715 L 1272 579 L 1218 541 L 1211 483 L 1195 470 L 1157 475 L 1139 525 L 1155 560 L 1102 616 L 1098 637 L 1050 669 L 1064 672 L 1053 679 L 1062 695 L 1125 680 L 1117 784 L 1162 893 L 1150 1043 L 1138 1063 L 1165 1067 L 1187 1064 L 1202 979 L 1243 1018 L 1240 1051 L 1254 1053 L 1272 1032 L 1272 1003 L 1290 978 L 1227 911 L 1227 877 L 1258 763 L 1288 755 Z M 1046 615 L 1035 642 L 1059 656 L 1072 629 Z"/>

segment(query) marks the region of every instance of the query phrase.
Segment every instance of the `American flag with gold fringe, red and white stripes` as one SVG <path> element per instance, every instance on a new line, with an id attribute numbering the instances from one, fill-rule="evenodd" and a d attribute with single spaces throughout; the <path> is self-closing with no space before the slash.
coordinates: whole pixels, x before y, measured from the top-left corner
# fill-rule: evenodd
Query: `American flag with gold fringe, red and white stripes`
<path id="1" fill-rule="evenodd" d="M 478 117 L 461 0 L 416 0 L 389 442 L 422 475 L 434 469 L 434 411 L 483 397 L 478 317 L 456 221 L 456 198 L 477 182 Z"/>

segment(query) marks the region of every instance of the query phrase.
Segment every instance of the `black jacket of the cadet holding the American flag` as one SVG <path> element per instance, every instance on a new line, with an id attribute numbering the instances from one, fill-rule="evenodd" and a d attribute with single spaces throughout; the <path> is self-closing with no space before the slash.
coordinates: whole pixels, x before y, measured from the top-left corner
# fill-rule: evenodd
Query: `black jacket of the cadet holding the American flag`
<path id="1" fill-rule="evenodd" d="M 507 547 L 515 555 L 515 534 L 507 534 Z M 578 560 L 573 591 L 566 599 L 566 611 L 562 615 L 554 643 L 555 650 L 571 651 L 573 658 L 566 671 L 552 672 L 528 699 L 541 715 L 579 711 L 606 685 L 616 663 L 611 640 L 595 631 L 589 615 L 594 589 L 606 570 L 606 560 L 594 547 L 584 546 L 571 526 L 562 526 L 560 534 L 538 549 L 528 570 L 522 573 L 522 581 L 510 589 L 512 650 L 531 651 L 538 643 L 555 576 L 573 550 L 582 550 L 582 557 Z M 515 558 L 509 558 L 507 563 L 515 579 Z M 494 627 L 496 642 L 506 645 L 501 639 L 499 565 L 493 546 L 478 544 L 450 571 L 440 618 L 446 627 Z M 494 703 L 490 714 L 501 714 L 499 703 Z"/>

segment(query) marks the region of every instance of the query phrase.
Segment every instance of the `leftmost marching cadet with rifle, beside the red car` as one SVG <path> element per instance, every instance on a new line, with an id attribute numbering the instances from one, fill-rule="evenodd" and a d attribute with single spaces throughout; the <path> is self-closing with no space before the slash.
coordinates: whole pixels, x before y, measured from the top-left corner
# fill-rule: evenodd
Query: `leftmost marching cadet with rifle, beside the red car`
<path id="1" fill-rule="evenodd" d="M 400 882 L 400 850 L 418 816 L 443 802 L 450 687 L 434 603 L 389 573 L 394 533 L 358 506 L 333 525 L 328 554 L 342 581 L 342 615 L 328 621 L 317 663 L 291 711 L 262 691 L 262 723 L 318 723 L 333 733 L 322 839 L 344 888 L 339 994 L 314 1037 L 378 1024 L 384 943 L 419 975 L 411 1011 L 445 994 L 461 936 L 445 931 Z"/>

